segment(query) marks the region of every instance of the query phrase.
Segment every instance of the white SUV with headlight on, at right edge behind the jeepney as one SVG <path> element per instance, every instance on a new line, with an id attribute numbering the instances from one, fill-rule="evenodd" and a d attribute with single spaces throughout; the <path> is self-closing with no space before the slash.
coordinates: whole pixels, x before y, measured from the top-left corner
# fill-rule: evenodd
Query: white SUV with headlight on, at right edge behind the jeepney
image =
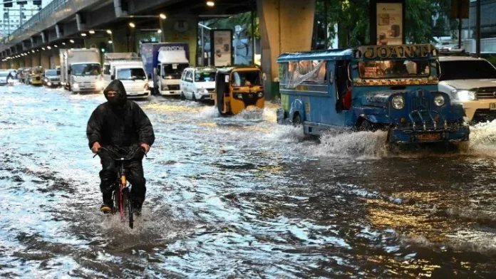
<path id="1" fill-rule="evenodd" d="M 439 90 L 461 103 L 470 122 L 496 119 L 496 68 L 482 58 L 440 56 Z"/>

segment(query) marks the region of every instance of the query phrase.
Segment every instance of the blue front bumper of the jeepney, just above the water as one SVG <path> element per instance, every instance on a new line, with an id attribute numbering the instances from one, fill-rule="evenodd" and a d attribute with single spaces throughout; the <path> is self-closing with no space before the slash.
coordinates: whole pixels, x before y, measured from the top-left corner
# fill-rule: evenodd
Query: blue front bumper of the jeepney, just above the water
<path id="1" fill-rule="evenodd" d="M 460 126 L 444 130 L 391 129 L 388 138 L 391 143 L 465 142 L 469 135 L 469 127 Z"/>

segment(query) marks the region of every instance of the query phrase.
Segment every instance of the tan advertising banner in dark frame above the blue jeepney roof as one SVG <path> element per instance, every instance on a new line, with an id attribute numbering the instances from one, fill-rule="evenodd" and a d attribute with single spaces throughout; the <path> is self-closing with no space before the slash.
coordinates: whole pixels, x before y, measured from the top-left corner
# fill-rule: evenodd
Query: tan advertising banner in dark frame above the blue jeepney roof
<path id="1" fill-rule="evenodd" d="M 377 3 L 377 44 L 401 45 L 403 43 L 403 4 Z"/>

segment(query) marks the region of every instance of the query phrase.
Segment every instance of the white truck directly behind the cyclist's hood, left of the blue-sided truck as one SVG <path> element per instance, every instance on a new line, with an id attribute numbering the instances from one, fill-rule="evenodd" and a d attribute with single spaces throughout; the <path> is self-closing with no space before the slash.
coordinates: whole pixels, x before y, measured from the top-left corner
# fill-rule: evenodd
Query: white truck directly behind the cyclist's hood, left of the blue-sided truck
<path id="1" fill-rule="evenodd" d="M 150 97 L 150 85 L 141 58 L 136 53 L 107 53 L 103 61 L 105 87 L 120 80 L 128 98 Z"/>

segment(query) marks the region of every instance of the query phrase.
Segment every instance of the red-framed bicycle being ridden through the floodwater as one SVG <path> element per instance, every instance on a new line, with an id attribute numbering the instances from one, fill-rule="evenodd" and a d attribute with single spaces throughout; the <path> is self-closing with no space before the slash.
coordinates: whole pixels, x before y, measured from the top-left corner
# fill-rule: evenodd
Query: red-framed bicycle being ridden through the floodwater
<path id="1" fill-rule="evenodd" d="M 146 156 L 145 149 L 143 147 L 136 148 L 134 152 L 130 152 L 128 154 L 128 157 L 120 157 L 118 154 L 115 154 L 115 152 L 111 151 L 110 149 L 107 149 L 105 147 L 100 147 L 98 149 L 98 152 L 93 156 L 95 158 L 98 154 L 100 154 L 101 150 L 105 150 L 110 154 L 110 158 L 115 160 L 115 162 L 118 162 L 118 171 L 117 171 L 117 177 L 115 179 L 115 189 L 113 190 L 112 194 L 112 203 L 113 203 L 113 211 L 112 213 L 115 214 L 117 212 L 120 213 L 120 220 L 124 223 L 125 222 L 125 216 L 127 216 L 129 220 L 129 227 L 133 228 L 134 227 L 134 211 L 133 211 L 133 201 L 131 199 L 131 191 L 130 191 L 130 185 L 129 181 L 125 177 L 125 168 L 124 168 L 124 162 L 125 161 L 130 161 L 133 159 L 138 151 L 141 150 Z"/>

